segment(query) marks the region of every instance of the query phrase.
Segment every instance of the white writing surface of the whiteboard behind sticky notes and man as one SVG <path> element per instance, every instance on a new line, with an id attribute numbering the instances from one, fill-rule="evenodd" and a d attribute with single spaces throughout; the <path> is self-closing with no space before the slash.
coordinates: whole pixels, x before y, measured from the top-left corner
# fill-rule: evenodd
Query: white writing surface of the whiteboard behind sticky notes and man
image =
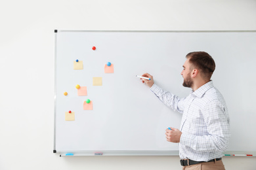
<path id="1" fill-rule="evenodd" d="M 92 50 L 95 46 L 96 50 Z M 55 30 L 54 152 L 62 155 L 178 155 L 165 139 L 181 116 L 135 75 L 150 73 L 164 90 L 186 97 L 182 65 L 188 52 L 215 59 L 213 84 L 223 94 L 231 122 L 226 153 L 256 153 L 256 31 L 64 31 Z M 74 61 L 83 69 L 74 70 Z M 114 73 L 104 73 L 111 62 Z M 93 86 L 102 77 L 102 86 Z M 87 86 L 78 96 L 75 85 Z M 64 95 L 68 92 L 68 95 Z M 83 110 L 86 99 L 93 110 Z M 65 112 L 75 112 L 65 121 Z"/>

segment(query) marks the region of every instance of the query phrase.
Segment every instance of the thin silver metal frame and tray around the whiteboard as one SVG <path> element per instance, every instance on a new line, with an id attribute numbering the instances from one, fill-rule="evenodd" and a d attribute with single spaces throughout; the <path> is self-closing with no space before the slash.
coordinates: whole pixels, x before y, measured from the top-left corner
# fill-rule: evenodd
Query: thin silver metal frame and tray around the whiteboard
<path id="1" fill-rule="evenodd" d="M 73 156 L 99 156 L 95 153 L 101 153 L 100 156 L 179 156 L 179 150 L 107 150 L 107 151 L 81 151 L 81 150 L 56 150 L 56 57 L 57 57 L 57 33 L 58 32 L 134 32 L 134 33 L 250 33 L 256 32 L 256 30 L 205 30 L 205 31 L 117 31 L 117 30 L 54 30 L 54 147 L 53 152 L 58 153 L 61 156 L 67 156 L 66 154 L 72 153 Z M 247 151 L 236 151 L 236 150 L 228 150 L 223 152 L 223 156 L 225 154 L 238 154 L 238 156 L 246 156 L 246 154 L 252 154 L 256 156 L 256 150 L 247 152 Z"/>

